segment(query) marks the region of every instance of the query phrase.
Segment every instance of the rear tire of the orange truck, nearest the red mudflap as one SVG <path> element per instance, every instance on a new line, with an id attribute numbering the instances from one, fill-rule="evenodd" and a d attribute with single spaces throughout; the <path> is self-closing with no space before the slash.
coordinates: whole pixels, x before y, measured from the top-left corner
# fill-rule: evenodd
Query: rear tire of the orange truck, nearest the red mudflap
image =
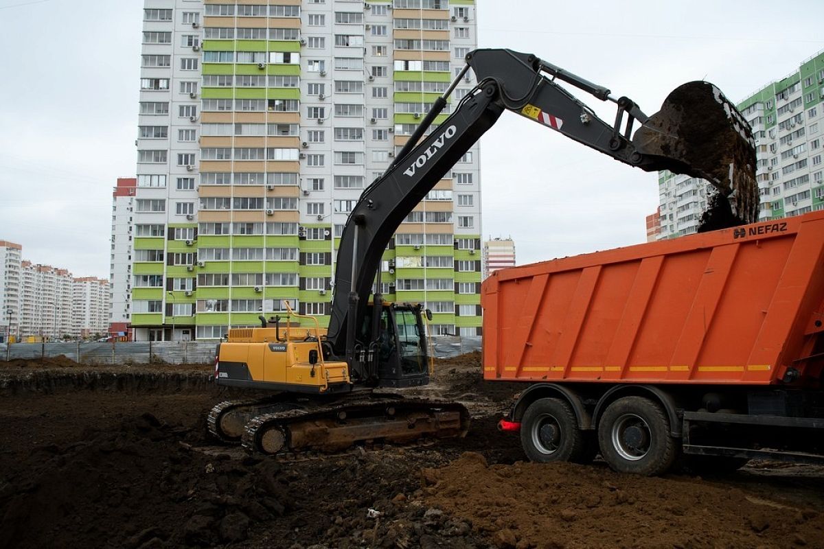
<path id="1" fill-rule="evenodd" d="M 572 408 L 559 398 L 539 398 L 523 414 L 521 445 L 530 461 L 576 462 L 583 457 L 585 443 Z"/>

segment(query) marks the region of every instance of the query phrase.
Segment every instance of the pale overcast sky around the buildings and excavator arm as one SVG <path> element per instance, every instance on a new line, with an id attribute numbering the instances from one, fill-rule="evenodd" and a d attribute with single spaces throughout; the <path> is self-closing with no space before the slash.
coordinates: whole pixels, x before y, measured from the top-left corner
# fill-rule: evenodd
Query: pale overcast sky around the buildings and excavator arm
<path id="1" fill-rule="evenodd" d="M 683 82 L 733 102 L 824 49 L 824 2 L 477 0 L 482 48 L 536 54 L 647 114 Z M 0 240 L 108 277 L 111 189 L 133 177 L 142 0 L 0 0 Z M 603 119 L 612 105 L 575 92 Z M 658 179 L 505 113 L 481 139 L 483 237 L 517 262 L 645 240 Z"/>

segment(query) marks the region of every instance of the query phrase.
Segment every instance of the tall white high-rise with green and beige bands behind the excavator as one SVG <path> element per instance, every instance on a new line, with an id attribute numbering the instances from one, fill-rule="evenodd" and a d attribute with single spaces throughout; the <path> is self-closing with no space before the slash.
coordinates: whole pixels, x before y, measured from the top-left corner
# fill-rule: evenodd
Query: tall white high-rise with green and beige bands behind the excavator
<path id="1" fill-rule="evenodd" d="M 134 338 L 222 337 L 286 302 L 328 322 L 347 215 L 475 48 L 474 1 L 146 0 L 143 14 Z M 424 302 L 434 333 L 480 333 L 480 313 L 459 312 L 480 303 L 480 221 L 473 147 L 397 230 L 387 299 Z"/>

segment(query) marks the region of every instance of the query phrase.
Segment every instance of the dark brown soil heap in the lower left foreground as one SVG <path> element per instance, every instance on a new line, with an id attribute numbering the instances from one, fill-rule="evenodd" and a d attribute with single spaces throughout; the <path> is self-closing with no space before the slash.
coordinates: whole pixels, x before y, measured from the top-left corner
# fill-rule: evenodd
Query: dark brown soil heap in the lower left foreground
<path id="1" fill-rule="evenodd" d="M 277 461 L 213 458 L 187 439 L 198 435 L 144 413 L 37 449 L 36 465 L 0 490 L 0 539 L 10 547 L 207 546 L 246 539 L 251 520 L 289 508 Z"/>

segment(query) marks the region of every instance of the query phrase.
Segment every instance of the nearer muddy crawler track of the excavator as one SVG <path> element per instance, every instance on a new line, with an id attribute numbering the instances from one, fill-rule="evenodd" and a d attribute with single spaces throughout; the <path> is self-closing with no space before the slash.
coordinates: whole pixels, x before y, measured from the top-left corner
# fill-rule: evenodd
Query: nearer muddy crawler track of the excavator
<path id="1" fill-rule="evenodd" d="M 241 444 L 250 453 L 269 455 L 330 452 L 358 442 L 462 437 L 469 422 L 466 407 L 456 402 L 372 395 L 256 416 L 246 424 Z"/>

